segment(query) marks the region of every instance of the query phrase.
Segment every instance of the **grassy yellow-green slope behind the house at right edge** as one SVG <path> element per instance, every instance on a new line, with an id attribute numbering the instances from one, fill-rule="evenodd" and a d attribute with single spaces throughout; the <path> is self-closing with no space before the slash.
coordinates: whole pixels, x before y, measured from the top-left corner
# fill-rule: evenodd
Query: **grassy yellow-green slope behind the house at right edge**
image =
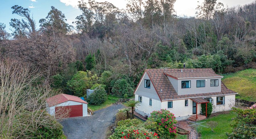
<path id="1" fill-rule="evenodd" d="M 226 87 L 239 93 L 236 98 L 256 102 L 256 69 L 246 69 L 223 76 L 222 81 Z"/>

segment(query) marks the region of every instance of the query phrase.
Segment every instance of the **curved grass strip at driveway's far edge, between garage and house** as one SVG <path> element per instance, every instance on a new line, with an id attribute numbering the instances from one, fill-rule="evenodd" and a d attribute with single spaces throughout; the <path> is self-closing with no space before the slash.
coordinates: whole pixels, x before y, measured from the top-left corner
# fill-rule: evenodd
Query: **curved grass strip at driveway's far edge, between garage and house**
<path id="1" fill-rule="evenodd" d="M 107 95 L 107 100 L 103 104 L 101 104 L 101 105 L 88 104 L 88 108 L 90 108 L 93 111 L 96 111 L 96 110 L 99 110 L 99 109 L 102 109 L 102 108 L 106 108 L 106 107 L 112 105 L 113 103 L 115 103 L 117 101 L 118 101 L 118 97 L 112 96 L 112 95 Z"/>

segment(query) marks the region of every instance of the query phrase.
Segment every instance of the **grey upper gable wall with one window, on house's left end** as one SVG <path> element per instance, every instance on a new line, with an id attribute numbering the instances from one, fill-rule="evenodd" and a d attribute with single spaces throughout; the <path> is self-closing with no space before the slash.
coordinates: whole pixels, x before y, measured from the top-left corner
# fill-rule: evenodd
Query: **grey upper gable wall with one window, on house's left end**
<path id="1" fill-rule="evenodd" d="M 160 101 L 160 98 L 158 97 L 156 90 L 154 89 L 154 86 L 151 81 L 150 81 L 150 88 L 144 87 L 145 79 L 149 80 L 147 72 L 145 72 L 144 74 L 145 74 L 145 76 L 141 80 L 141 84 L 137 88 L 137 91 L 135 92 L 135 94 Z M 148 102 L 148 104 L 149 104 L 149 102 Z"/>

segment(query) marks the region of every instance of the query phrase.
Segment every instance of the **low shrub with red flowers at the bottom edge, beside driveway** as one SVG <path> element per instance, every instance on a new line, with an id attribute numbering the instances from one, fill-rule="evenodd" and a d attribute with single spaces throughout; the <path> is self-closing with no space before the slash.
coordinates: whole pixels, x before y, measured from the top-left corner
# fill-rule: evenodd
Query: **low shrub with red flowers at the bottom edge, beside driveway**
<path id="1" fill-rule="evenodd" d="M 115 132 L 109 137 L 109 139 L 137 139 L 137 138 L 145 138 L 145 139 L 157 139 L 159 138 L 158 134 L 152 132 L 148 129 L 145 129 L 144 124 L 141 120 L 138 119 L 127 119 L 119 121 L 117 124 L 117 128 Z"/>

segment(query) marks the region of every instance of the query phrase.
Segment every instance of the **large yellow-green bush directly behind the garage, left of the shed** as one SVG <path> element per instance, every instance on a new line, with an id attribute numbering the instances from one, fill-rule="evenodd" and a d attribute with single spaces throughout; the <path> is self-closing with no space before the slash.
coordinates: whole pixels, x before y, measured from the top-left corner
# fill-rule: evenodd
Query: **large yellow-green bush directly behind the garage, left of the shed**
<path id="1" fill-rule="evenodd" d="M 70 81 L 67 82 L 67 87 L 74 92 L 75 96 L 84 96 L 86 89 L 92 87 L 96 83 L 98 77 L 90 71 L 78 71 Z"/>

